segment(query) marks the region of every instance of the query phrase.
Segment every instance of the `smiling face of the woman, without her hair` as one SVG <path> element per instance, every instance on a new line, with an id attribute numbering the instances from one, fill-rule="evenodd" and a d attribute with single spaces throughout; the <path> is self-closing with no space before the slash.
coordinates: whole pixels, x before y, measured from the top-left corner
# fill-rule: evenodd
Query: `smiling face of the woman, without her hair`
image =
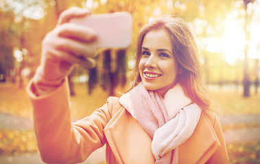
<path id="1" fill-rule="evenodd" d="M 146 90 L 164 94 L 175 85 L 178 64 L 172 53 L 172 41 L 165 29 L 154 29 L 145 35 L 141 47 L 139 73 Z"/>

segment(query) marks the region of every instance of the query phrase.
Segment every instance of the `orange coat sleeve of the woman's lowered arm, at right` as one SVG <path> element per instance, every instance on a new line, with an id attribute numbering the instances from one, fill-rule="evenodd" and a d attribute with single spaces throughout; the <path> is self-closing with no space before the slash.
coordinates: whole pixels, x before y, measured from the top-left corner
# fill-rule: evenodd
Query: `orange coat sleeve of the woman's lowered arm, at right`
<path id="1" fill-rule="evenodd" d="M 209 116 L 211 115 L 211 116 Z M 213 117 L 214 119 L 213 122 L 211 122 L 213 124 L 213 128 L 215 130 L 215 133 L 217 135 L 217 138 L 220 140 L 220 148 L 217 149 L 217 151 L 211 156 L 211 158 L 206 162 L 206 163 L 222 163 L 222 164 L 228 164 L 228 153 L 226 150 L 226 143 L 225 143 L 225 139 L 224 139 L 224 135 L 222 132 L 222 128 L 220 125 L 220 120 L 218 119 L 217 115 L 210 113 L 208 114 L 209 117 Z"/>

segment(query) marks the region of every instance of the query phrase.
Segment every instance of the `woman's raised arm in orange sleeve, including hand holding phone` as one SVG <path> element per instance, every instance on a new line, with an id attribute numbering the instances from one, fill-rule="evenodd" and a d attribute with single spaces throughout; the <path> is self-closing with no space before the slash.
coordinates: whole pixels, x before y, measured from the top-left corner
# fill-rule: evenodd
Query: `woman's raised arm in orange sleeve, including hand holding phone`
<path id="1" fill-rule="evenodd" d="M 107 105 L 90 117 L 71 124 L 67 74 L 73 64 L 95 66 L 95 31 L 69 23 L 88 11 L 71 8 L 63 12 L 56 28 L 42 44 L 40 66 L 27 93 L 34 112 L 34 129 L 38 148 L 47 163 L 78 163 L 101 147 L 106 139 L 103 128 L 110 120 Z M 87 107 L 86 107 L 87 108 Z"/>

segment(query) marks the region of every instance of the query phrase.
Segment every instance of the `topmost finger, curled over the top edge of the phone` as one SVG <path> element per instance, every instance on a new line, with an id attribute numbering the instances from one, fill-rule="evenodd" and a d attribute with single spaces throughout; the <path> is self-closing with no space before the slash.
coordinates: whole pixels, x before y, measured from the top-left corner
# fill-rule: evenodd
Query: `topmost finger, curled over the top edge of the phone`
<path id="1" fill-rule="evenodd" d="M 77 8 L 72 7 L 68 10 L 65 10 L 60 14 L 60 17 L 58 18 L 58 25 L 62 25 L 63 23 L 68 23 L 69 20 L 73 17 L 80 17 L 80 16 L 87 16 L 91 14 L 91 12 L 86 8 Z"/>

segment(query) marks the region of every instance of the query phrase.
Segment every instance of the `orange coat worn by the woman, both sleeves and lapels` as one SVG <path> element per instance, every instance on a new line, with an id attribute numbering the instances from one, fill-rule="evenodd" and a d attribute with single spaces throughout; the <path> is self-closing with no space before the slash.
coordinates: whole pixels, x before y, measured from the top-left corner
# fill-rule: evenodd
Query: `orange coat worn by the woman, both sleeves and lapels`
<path id="1" fill-rule="evenodd" d="M 46 163 L 80 163 L 105 143 L 106 163 L 154 163 L 152 139 L 119 98 L 108 98 L 92 115 L 71 124 L 67 83 L 51 94 L 35 96 L 31 81 L 27 93 L 40 156 Z M 179 163 L 228 163 L 217 115 L 202 112 L 193 135 L 179 146 Z"/>

